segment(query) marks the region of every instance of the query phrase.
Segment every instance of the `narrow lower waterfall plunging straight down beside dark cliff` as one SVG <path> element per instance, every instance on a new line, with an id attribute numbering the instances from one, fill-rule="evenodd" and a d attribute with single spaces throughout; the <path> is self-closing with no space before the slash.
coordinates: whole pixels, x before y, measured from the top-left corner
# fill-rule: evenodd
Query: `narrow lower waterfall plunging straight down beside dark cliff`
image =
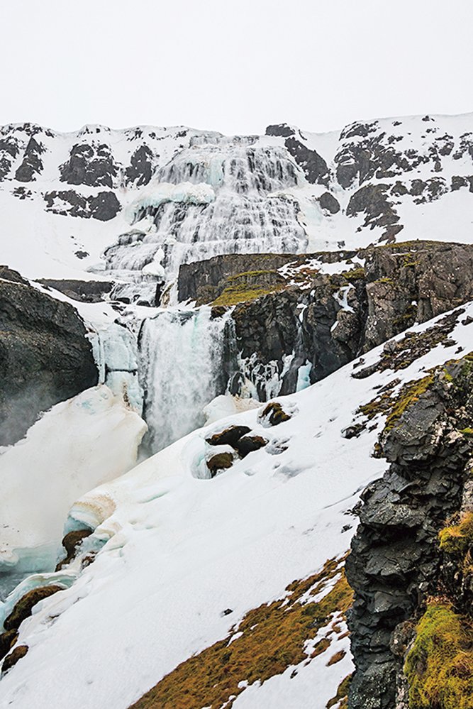
<path id="1" fill-rule="evenodd" d="M 152 453 L 204 424 L 203 407 L 226 387 L 227 343 L 226 317 L 212 319 L 209 307 L 143 322 L 139 371 Z"/>

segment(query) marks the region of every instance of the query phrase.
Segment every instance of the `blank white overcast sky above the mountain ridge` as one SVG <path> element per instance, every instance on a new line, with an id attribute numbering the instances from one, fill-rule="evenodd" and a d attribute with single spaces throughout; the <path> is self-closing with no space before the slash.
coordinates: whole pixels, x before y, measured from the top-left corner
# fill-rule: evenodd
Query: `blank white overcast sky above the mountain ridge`
<path id="1" fill-rule="evenodd" d="M 261 133 L 473 111 L 473 0 L 0 0 L 0 123 Z"/>

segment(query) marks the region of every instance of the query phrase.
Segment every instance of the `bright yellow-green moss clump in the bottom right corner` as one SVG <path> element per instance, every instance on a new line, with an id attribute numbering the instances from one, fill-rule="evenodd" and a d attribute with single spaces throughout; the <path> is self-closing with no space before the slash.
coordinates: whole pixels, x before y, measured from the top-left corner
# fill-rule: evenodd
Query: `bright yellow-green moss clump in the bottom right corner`
<path id="1" fill-rule="evenodd" d="M 471 709 L 473 628 L 448 603 L 432 602 L 418 623 L 404 672 L 411 709 Z"/>

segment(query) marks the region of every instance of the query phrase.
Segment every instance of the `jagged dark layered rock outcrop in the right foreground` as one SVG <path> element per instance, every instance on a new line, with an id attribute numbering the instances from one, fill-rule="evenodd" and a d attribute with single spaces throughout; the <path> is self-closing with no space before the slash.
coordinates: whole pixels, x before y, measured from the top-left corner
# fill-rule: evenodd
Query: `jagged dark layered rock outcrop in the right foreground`
<path id="1" fill-rule="evenodd" d="M 360 525 L 346 561 L 355 590 L 350 709 L 406 706 L 403 666 L 414 622 L 427 596 L 445 589 L 438 533 L 460 510 L 469 475 L 473 446 L 461 431 L 473 414 L 472 384 L 467 358 L 440 368 L 381 434 L 391 466 L 362 494 Z"/>

